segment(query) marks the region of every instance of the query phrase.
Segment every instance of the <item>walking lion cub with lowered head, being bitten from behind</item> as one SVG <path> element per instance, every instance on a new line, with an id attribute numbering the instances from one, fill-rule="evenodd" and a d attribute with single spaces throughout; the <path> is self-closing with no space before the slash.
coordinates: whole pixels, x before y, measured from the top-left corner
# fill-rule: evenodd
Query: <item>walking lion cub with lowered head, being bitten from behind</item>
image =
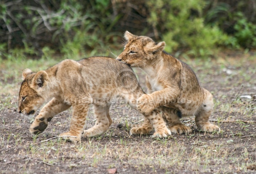
<path id="1" fill-rule="evenodd" d="M 121 96 L 136 108 L 137 99 L 144 93 L 136 76 L 129 66 L 107 57 L 91 57 L 80 61 L 63 60 L 46 69 L 32 73 L 23 71 L 24 81 L 19 93 L 19 113 L 33 115 L 39 107 L 49 101 L 36 116 L 29 131 L 32 134 L 43 132 L 54 115 L 73 107 L 69 132 L 60 136 L 72 141 L 81 137 L 101 135 L 110 127 L 109 115 L 111 101 Z M 93 104 L 95 125 L 84 131 L 84 124 L 90 104 Z M 171 132 L 158 112 L 144 114 L 145 120 L 153 125 L 155 136 L 166 137 Z M 153 127 L 131 129 L 131 134 L 146 134 Z"/>

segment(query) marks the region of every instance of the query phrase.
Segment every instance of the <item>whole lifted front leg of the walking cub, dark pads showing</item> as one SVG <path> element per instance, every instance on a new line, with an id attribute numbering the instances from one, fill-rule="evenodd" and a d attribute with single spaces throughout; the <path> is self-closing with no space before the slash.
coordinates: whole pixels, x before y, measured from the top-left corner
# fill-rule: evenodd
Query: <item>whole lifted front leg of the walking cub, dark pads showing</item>
<path id="1" fill-rule="evenodd" d="M 56 98 L 53 98 L 49 101 L 40 111 L 40 113 L 34 119 L 34 122 L 29 128 L 29 132 L 33 135 L 43 132 L 48 126 L 54 115 L 69 109 L 70 105 L 65 104 L 64 102 L 58 101 Z"/>

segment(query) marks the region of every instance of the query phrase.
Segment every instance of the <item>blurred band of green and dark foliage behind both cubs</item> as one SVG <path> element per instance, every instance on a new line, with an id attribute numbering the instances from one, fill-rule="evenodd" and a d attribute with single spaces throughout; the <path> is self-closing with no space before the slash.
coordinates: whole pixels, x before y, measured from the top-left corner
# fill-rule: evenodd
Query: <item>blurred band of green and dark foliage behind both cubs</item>
<path id="1" fill-rule="evenodd" d="M 175 56 L 208 57 L 255 49 L 255 15 L 255 0 L 0 0 L 0 56 L 119 54 L 128 30 Z"/>

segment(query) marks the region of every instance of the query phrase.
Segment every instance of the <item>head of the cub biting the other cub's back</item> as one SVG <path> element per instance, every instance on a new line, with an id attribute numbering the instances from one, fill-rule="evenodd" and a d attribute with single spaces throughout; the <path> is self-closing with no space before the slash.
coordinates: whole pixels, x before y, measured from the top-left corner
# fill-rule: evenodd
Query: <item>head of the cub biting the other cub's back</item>
<path id="1" fill-rule="evenodd" d="M 127 43 L 117 60 L 131 67 L 144 67 L 149 64 L 161 54 L 165 46 L 165 42 L 155 43 L 147 36 L 133 35 L 128 31 L 125 32 L 124 37 Z"/>

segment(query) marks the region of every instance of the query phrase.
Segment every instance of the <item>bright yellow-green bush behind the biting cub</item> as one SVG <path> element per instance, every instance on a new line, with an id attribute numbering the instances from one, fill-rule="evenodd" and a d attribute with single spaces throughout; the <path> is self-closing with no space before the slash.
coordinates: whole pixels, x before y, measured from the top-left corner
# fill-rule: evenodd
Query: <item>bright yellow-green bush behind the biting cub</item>
<path id="1" fill-rule="evenodd" d="M 204 24 L 204 0 L 149 0 L 149 23 L 163 33 L 166 51 L 183 50 L 192 56 L 208 56 L 228 36 L 217 26 Z"/>

